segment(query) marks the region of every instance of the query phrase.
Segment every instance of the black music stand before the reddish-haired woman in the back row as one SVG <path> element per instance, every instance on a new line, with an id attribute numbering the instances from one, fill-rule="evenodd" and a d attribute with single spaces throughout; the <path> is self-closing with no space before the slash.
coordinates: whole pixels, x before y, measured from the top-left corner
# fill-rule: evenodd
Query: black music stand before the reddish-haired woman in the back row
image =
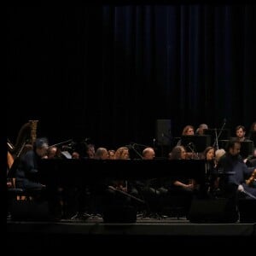
<path id="1" fill-rule="evenodd" d="M 211 145 L 211 137 L 209 135 L 183 135 L 181 145 L 185 148 L 193 148 L 195 152 L 203 152 Z"/>

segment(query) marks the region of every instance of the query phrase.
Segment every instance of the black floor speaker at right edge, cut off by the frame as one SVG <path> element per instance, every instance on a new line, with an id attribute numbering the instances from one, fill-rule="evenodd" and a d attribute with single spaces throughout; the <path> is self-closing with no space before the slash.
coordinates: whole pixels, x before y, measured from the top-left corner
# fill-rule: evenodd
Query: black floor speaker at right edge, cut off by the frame
<path id="1" fill-rule="evenodd" d="M 256 223 L 256 200 L 241 199 L 238 202 L 241 223 Z"/>

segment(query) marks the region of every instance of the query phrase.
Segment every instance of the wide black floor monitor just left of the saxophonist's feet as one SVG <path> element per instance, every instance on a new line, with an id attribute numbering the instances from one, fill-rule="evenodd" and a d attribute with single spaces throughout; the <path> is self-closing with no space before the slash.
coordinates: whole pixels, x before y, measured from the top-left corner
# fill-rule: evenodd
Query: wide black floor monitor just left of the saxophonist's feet
<path id="1" fill-rule="evenodd" d="M 236 223 L 238 214 L 230 211 L 230 202 L 226 198 L 195 199 L 189 210 L 191 223 Z"/>

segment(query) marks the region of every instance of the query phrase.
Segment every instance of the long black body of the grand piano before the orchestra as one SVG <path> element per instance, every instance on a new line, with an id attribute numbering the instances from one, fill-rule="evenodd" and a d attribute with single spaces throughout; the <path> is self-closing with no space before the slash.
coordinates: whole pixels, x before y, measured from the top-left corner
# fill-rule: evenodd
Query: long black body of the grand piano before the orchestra
<path id="1" fill-rule="evenodd" d="M 205 181 L 205 160 L 76 160 L 50 159 L 38 163 L 40 182 L 76 185 L 102 183 L 108 179 L 140 180 L 163 177 Z"/>

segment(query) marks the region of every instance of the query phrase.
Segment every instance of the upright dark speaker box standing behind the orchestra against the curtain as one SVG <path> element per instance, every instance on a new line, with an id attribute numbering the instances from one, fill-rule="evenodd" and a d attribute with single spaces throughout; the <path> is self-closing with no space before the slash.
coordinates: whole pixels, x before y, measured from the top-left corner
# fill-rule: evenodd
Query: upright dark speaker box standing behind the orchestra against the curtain
<path id="1" fill-rule="evenodd" d="M 156 120 L 156 139 L 158 145 L 170 146 L 172 141 L 171 119 Z"/>

